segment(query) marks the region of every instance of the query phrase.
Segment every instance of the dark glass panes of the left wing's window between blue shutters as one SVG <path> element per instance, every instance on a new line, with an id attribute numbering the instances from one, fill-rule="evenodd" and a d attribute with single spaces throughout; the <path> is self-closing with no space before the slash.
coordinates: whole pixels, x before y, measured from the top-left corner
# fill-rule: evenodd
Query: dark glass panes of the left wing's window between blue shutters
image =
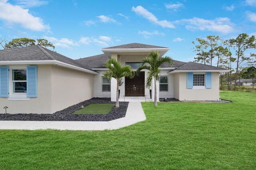
<path id="1" fill-rule="evenodd" d="M 12 93 L 27 92 L 27 72 L 26 70 L 12 70 Z"/>

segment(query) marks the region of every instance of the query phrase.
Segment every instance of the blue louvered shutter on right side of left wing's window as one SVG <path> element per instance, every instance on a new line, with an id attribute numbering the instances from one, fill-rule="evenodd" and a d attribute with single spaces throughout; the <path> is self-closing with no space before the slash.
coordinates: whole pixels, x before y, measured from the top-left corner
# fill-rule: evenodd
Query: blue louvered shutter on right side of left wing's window
<path id="1" fill-rule="evenodd" d="M 37 97 L 37 66 L 27 66 L 27 97 Z"/>

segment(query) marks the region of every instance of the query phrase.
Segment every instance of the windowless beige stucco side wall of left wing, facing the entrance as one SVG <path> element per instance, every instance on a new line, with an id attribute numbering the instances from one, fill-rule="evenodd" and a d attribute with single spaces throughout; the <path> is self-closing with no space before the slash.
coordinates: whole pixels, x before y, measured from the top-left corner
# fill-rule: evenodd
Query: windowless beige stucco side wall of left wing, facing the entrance
<path id="1" fill-rule="evenodd" d="M 52 113 L 94 97 L 94 74 L 52 66 Z"/>

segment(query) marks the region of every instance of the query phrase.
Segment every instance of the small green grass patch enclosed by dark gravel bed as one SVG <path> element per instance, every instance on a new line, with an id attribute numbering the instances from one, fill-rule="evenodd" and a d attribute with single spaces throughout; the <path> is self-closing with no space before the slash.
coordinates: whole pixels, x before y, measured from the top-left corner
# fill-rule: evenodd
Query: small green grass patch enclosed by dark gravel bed
<path id="1" fill-rule="evenodd" d="M 92 103 L 72 114 L 108 114 L 114 106 L 112 103 Z"/>

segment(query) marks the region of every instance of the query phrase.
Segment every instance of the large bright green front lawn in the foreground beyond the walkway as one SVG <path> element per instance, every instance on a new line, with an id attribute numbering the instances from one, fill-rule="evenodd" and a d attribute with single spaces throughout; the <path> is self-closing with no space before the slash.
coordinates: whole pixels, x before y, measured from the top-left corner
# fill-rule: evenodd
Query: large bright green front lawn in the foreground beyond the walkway
<path id="1" fill-rule="evenodd" d="M 114 131 L 0 131 L 0 169 L 256 169 L 256 93 L 230 104 L 143 103 Z"/>

